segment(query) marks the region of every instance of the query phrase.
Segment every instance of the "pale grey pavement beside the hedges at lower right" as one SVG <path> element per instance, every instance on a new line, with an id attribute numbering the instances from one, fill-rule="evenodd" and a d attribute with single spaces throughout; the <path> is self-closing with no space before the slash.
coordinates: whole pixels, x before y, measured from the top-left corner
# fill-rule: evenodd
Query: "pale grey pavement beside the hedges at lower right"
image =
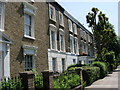
<path id="1" fill-rule="evenodd" d="M 85 90 L 120 90 L 120 66 L 112 74 L 85 87 Z"/>

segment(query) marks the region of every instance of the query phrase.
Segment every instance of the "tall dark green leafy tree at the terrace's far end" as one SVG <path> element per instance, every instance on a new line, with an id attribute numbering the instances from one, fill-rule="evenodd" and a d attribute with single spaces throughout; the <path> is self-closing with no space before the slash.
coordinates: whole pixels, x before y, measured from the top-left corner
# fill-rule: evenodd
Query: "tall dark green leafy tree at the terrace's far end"
<path id="1" fill-rule="evenodd" d="M 109 23 L 108 17 L 97 8 L 92 8 L 91 11 L 86 16 L 86 20 L 93 32 L 97 60 L 105 61 L 103 56 L 111 51 L 115 52 L 116 57 L 119 56 L 120 44 L 113 25 Z"/>

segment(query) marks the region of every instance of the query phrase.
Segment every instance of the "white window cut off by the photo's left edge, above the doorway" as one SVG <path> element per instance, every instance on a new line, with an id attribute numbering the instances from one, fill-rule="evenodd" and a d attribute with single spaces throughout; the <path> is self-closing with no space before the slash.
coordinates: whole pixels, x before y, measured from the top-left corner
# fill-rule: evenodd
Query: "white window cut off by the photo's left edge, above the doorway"
<path id="1" fill-rule="evenodd" d="M 0 2 L 0 31 L 4 31 L 4 9 L 5 4 Z"/>

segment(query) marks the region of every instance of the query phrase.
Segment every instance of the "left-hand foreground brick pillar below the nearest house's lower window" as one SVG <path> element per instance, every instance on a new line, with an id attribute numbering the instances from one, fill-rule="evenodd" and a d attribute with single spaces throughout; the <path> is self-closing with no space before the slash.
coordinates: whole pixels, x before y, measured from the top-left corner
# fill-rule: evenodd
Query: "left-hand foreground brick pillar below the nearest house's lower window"
<path id="1" fill-rule="evenodd" d="M 35 90 L 34 77 L 35 75 L 33 72 L 20 72 L 20 78 L 22 79 L 24 90 Z"/>

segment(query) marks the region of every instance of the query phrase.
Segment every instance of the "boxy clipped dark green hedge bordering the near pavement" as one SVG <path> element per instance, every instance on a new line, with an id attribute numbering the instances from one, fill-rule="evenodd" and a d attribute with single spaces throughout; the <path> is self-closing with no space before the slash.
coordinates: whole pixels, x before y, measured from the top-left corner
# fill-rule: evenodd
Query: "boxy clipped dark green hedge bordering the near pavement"
<path id="1" fill-rule="evenodd" d="M 94 81 L 100 78 L 100 68 L 92 66 L 83 66 L 83 81 L 86 82 L 86 85 L 92 84 Z"/>

